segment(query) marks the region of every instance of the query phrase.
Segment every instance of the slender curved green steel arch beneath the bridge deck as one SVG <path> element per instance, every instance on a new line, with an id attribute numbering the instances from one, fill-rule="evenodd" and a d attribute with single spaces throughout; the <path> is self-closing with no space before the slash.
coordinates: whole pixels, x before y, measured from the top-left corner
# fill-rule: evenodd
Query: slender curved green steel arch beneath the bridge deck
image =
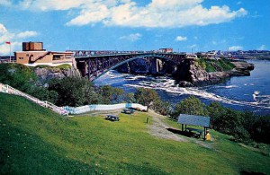
<path id="1" fill-rule="evenodd" d="M 159 55 L 155 55 L 155 54 L 145 54 L 145 55 L 140 55 L 140 56 L 136 56 L 136 57 L 130 57 L 129 59 L 121 61 L 120 63 L 118 63 L 118 64 L 116 64 L 116 65 L 114 65 L 114 66 L 112 66 L 112 67 L 110 67 L 108 69 L 105 69 L 102 74 L 98 74 L 97 76 L 95 76 L 94 79 L 92 79 L 92 81 L 96 80 L 97 78 L 101 77 L 103 74 L 106 74 L 107 72 L 115 69 L 118 66 L 121 66 L 121 65 L 123 65 L 125 63 L 129 63 L 130 61 L 133 61 L 133 60 L 136 60 L 136 59 L 141 59 L 141 58 L 142 59 L 147 59 L 148 57 L 156 57 L 156 58 L 160 58 L 160 59 L 166 59 L 167 61 L 173 62 L 175 65 L 178 64 L 178 62 L 176 62 L 175 60 L 170 59 L 170 58 L 165 57 L 165 56 L 159 56 Z"/>

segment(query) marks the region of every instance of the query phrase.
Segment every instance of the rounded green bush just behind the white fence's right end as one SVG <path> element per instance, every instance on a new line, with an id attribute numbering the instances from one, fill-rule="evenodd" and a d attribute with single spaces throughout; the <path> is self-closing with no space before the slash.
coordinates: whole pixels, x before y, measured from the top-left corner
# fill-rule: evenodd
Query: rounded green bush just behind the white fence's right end
<path id="1" fill-rule="evenodd" d="M 155 101 L 159 100 L 157 92 L 153 89 L 138 88 L 134 95 L 139 104 L 147 106 L 147 110 L 153 106 Z"/>

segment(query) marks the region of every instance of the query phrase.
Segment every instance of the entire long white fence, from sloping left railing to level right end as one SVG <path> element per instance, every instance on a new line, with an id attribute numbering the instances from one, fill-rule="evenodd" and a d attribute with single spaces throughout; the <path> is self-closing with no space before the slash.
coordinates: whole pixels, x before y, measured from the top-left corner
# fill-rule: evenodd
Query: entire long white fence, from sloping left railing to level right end
<path id="1" fill-rule="evenodd" d="M 30 101 L 33 101 L 37 104 L 39 104 L 42 107 L 51 109 L 55 112 L 57 112 L 60 115 L 68 115 L 68 114 L 81 114 L 89 111 L 94 110 L 114 110 L 114 109 L 124 109 L 124 108 L 133 108 L 133 109 L 139 109 L 139 110 L 147 110 L 146 106 L 142 106 L 137 103 L 120 103 L 120 104 L 112 104 L 112 105 L 104 105 L 104 104 L 96 104 L 96 105 L 86 105 L 81 107 L 58 107 L 49 101 L 40 101 L 39 99 L 32 97 L 31 95 L 21 92 L 19 90 L 14 89 L 13 87 L 0 83 L 0 92 L 19 95 L 24 97 L 25 99 L 28 99 Z"/>

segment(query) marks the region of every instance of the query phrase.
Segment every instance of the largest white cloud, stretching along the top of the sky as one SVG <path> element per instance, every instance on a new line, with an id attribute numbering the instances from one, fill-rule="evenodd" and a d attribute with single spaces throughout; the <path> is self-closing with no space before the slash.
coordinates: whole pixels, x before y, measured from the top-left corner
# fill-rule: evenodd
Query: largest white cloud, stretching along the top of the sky
<path id="1" fill-rule="evenodd" d="M 67 25 L 82 26 L 101 22 L 109 26 L 180 28 L 230 22 L 244 16 L 243 8 L 231 11 L 229 6 L 202 6 L 203 0 L 152 0 L 139 6 L 132 0 L 23 0 L 18 6 L 27 10 L 53 11 L 76 9 Z"/>

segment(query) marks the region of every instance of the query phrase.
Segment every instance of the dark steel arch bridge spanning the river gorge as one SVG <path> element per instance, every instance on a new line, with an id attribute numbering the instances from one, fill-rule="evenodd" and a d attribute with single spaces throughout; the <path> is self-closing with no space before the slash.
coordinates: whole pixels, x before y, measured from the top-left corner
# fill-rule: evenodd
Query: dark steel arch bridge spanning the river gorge
<path id="1" fill-rule="evenodd" d="M 144 59 L 150 67 L 148 73 L 162 72 L 160 60 L 179 66 L 186 58 L 185 53 L 161 53 L 154 51 L 94 51 L 70 50 L 74 53 L 76 66 L 83 76 L 94 81 L 106 72 L 136 59 Z M 168 64 L 171 65 L 171 64 Z"/>

